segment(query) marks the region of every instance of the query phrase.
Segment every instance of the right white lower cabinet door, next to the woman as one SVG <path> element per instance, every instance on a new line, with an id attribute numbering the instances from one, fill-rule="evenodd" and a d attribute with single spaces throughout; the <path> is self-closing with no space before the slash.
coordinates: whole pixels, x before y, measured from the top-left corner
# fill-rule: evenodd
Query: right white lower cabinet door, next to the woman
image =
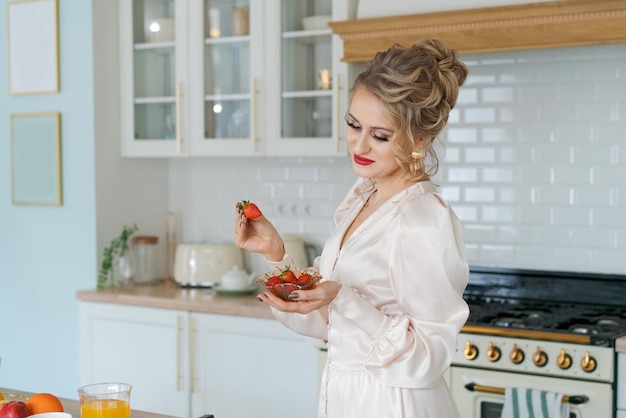
<path id="1" fill-rule="evenodd" d="M 274 319 L 191 315 L 191 416 L 315 418 L 314 342 Z"/>

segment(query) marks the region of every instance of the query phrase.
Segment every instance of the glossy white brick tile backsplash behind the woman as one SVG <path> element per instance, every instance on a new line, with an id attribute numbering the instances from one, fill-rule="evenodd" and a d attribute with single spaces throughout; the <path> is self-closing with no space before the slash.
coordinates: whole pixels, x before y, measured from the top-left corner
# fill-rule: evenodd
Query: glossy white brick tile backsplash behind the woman
<path id="1" fill-rule="evenodd" d="M 626 44 L 472 54 L 434 181 L 473 265 L 626 274 Z M 251 199 L 318 246 L 354 183 L 350 159 L 170 162 L 182 240 L 232 240 Z"/>

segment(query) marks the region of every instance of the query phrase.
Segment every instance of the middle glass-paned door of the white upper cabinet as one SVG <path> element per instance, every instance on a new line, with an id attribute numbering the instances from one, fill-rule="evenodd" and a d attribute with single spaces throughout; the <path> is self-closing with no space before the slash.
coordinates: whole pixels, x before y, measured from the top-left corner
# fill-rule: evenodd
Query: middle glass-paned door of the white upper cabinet
<path id="1" fill-rule="evenodd" d="M 201 14 L 192 28 L 192 128 L 194 154 L 246 155 L 256 149 L 255 51 L 261 51 L 262 2 L 201 0 L 191 14 Z M 260 22 L 260 20 L 259 20 Z M 199 43 L 195 43 L 200 40 Z M 194 47 L 194 45 L 197 47 Z M 260 54 L 260 52 L 259 52 Z M 257 65 L 260 66 L 260 65 Z M 198 71 L 198 70 L 201 70 Z M 202 126 L 199 126 L 199 125 Z"/>

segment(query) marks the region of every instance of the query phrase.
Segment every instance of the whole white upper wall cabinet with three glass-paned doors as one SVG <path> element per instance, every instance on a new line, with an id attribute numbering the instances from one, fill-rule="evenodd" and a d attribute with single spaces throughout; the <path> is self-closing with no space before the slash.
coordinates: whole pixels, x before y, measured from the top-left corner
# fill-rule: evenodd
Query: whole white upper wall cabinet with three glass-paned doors
<path id="1" fill-rule="evenodd" d="M 303 19 L 354 3 L 119 0 L 122 154 L 345 154 L 342 42 Z"/>

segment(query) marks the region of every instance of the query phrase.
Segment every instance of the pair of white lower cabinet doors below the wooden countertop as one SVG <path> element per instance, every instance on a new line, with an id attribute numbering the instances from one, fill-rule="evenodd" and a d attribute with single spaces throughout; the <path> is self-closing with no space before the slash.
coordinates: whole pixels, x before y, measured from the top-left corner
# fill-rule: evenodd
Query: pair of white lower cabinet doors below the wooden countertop
<path id="1" fill-rule="evenodd" d="M 135 409 L 314 418 L 316 347 L 274 319 L 79 302 L 81 384 L 123 381 Z"/>

